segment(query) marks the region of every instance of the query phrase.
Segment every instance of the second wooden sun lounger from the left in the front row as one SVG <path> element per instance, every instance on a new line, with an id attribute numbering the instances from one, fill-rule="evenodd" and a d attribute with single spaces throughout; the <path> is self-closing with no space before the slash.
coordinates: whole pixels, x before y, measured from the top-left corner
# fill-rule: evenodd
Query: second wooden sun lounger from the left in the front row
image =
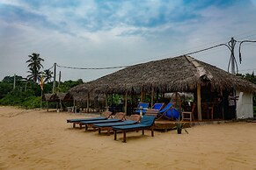
<path id="1" fill-rule="evenodd" d="M 123 120 L 126 120 L 125 113 L 117 112 L 113 118 L 109 118 L 106 120 L 81 121 L 80 127 L 85 125 L 85 131 L 87 131 L 88 128 L 92 127 L 93 124 L 107 124 L 107 123 L 121 122 Z"/>

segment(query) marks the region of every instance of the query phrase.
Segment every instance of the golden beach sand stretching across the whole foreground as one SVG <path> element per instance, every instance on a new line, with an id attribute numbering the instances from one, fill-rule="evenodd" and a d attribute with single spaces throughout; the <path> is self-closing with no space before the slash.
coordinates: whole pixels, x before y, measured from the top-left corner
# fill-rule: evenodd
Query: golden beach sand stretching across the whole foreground
<path id="1" fill-rule="evenodd" d="M 128 132 L 122 143 L 66 123 L 84 115 L 0 107 L 0 169 L 256 169 L 255 123 Z"/>

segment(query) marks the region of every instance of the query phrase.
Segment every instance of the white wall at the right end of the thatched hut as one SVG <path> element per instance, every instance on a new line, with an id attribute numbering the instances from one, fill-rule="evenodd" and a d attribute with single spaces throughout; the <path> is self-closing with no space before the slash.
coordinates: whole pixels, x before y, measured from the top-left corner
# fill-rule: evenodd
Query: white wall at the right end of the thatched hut
<path id="1" fill-rule="evenodd" d="M 236 90 L 237 118 L 253 117 L 252 93 Z"/>

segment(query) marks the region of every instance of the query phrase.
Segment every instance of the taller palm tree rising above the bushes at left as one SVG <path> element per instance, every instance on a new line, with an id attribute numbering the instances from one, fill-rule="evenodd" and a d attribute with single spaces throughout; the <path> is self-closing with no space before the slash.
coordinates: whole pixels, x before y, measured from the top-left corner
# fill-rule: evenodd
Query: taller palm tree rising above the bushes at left
<path id="1" fill-rule="evenodd" d="M 43 67 L 41 61 L 44 61 L 40 58 L 39 53 L 32 53 L 28 55 L 29 60 L 26 60 L 26 63 L 29 63 L 27 67 L 29 68 L 28 73 L 30 73 L 27 78 L 33 80 L 34 82 L 40 80 L 40 68 Z"/>

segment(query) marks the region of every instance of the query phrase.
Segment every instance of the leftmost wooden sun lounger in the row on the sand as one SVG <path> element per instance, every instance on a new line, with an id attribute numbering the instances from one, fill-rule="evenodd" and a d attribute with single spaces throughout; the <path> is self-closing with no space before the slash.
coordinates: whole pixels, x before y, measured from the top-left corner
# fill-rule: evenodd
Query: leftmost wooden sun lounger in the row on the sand
<path id="1" fill-rule="evenodd" d="M 91 118 L 75 118 L 75 119 L 67 119 L 67 123 L 72 123 L 73 128 L 76 127 L 76 124 L 80 124 L 82 121 L 95 121 L 95 120 L 106 120 L 112 117 L 111 111 L 104 111 L 100 114 L 100 117 L 91 117 Z M 81 128 L 81 126 L 80 126 Z"/>

